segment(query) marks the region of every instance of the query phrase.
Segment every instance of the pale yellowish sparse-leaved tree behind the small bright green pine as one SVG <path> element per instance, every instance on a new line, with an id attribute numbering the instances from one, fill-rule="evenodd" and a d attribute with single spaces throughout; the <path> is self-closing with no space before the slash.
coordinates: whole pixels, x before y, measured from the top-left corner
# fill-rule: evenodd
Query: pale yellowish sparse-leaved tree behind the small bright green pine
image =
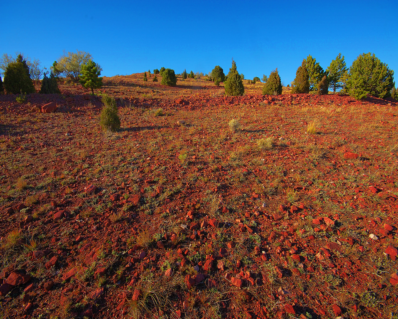
<path id="1" fill-rule="evenodd" d="M 71 81 L 80 81 L 82 66 L 92 59 L 91 54 L 84 51 L 62 53 L 57 60 L 57 69 Z"/>

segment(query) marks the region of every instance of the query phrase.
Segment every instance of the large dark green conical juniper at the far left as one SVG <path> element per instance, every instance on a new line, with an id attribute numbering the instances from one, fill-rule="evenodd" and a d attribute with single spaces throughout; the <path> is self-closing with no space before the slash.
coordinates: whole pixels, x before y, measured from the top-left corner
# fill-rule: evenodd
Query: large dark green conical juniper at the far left
<path id="1" fill-rule="evenodd" d="M 20 57 L 20 55 L 18 56 Z M 34 93 L 33 81 L 29 76 L 26 61 L 17 58 L 15 62 L 7 65 L 4 72 L 4 88 L 8 93 Z"/>

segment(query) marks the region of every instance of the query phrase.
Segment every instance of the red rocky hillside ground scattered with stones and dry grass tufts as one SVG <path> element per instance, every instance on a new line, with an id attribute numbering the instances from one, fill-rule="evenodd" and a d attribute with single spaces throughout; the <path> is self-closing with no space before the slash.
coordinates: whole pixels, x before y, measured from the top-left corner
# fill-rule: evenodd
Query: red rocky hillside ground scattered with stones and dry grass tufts
<path id="1" fill-rule="evenodd" d="M 0 95 L 0 318 L 398 317 L 396 101 L 140 79 Z"/>

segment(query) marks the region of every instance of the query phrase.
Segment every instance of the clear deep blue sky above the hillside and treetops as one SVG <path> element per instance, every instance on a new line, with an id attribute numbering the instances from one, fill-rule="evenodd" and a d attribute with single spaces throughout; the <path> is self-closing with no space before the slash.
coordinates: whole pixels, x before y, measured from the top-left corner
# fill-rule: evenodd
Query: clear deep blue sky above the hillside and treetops
<path id="1" fill-rule="evenodd" d="M 49 67 L 63 50 L 92 54 L 113 76 L 170 67 L 208 73 L 231 58 L 245 79 L 278 68 L 285 85 L 308 54 L 326 69 L 373 52 L 398 79 L 398 1 L 4 1 L 0 55 Z M 398 82 L 398 81 L 396 81 Z"/>

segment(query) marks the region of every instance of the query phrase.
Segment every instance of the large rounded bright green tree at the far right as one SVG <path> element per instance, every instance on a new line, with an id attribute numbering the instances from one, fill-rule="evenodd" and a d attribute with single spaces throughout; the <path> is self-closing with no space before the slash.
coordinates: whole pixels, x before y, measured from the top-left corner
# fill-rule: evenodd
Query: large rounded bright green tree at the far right
<path id="1" fill-rule="evenodd" d="M 349 68 L 346 85 L 347 93 L 355 98 L 367 94 L 385 98 L 394 86 L 394 71 L 374 53 L 362 53 Z"/>

